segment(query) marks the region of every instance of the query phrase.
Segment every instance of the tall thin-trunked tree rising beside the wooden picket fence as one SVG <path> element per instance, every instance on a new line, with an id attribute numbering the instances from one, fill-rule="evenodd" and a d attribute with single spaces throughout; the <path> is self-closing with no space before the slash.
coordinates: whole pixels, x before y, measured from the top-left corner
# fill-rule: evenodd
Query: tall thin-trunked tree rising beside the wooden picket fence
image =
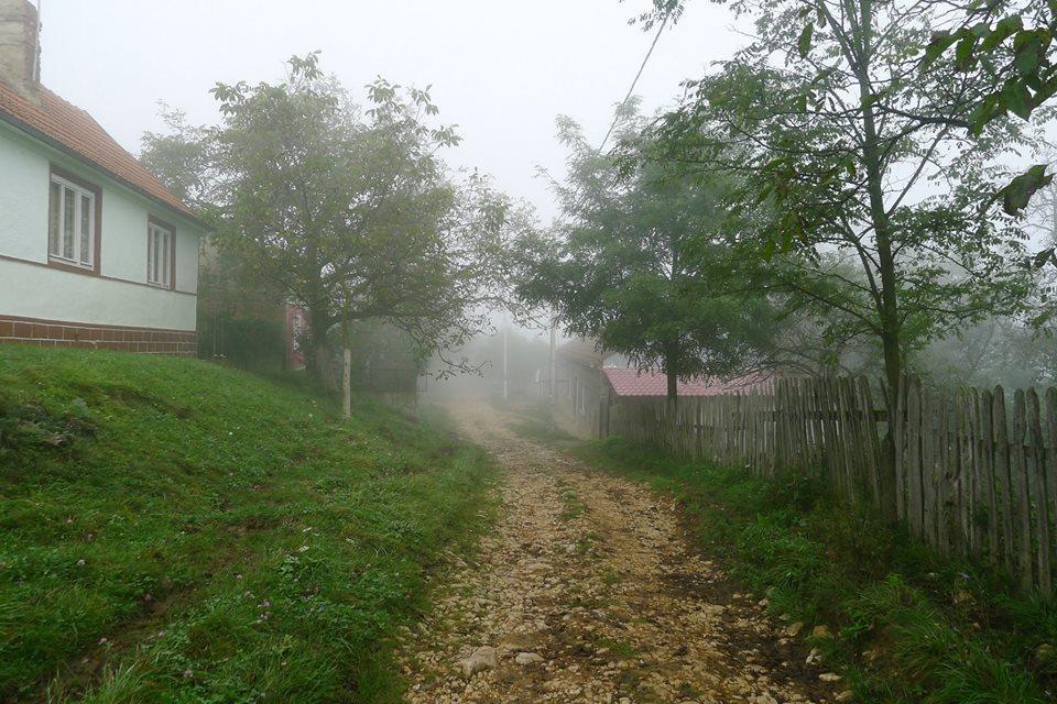
<path id="1" fill-rule="evenodd" d="M 689 85 L 657 139 L 671 160 L 743 175 L 738 201 L 758 219 L 741 241 L 769 290 L 839 310 L 833 339 L 874 340 L 894 409 L 908 351 L 1023 305 L 1024 233 L 1001 209 L 1009 174 L 995 164 L 1031 134 L 1001 118 L 969 135 L 982 69 L 947 56 L 922 69 L 941 4 L 732 7 L 755 20 L 754 40 Z"/>

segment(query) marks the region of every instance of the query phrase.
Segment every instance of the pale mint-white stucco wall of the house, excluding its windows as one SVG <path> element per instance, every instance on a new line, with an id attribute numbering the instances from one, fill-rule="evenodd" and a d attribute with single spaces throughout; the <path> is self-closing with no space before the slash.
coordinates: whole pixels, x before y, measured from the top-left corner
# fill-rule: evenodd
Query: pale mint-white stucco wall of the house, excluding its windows
<path id="1" fill-rule="evenodd" d="M 47 263 L 51 165 L 102 189 L 101 276 Z M 176 290 L 146 286 L 148 219 L 176 230 Z M 200 231 L 167 208 L 0 123 L 0 315 L 195 330 Z M 118 279 L 118 280 L 115 280 Z"/>

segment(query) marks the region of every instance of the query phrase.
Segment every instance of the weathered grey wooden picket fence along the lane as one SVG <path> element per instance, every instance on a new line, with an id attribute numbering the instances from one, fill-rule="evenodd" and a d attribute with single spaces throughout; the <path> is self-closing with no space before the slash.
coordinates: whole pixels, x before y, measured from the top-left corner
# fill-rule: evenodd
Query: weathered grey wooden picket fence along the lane
<path id="1" fill-rule="evenodd" d="M 1057 389 L 923 387 L 904 380 L 890 424 L 858 377 L 781 378 L 741 394 L 611 404 L 603 435 L 758 476 L 825 477 L 940 551 L 989 561 L 1025 591 L 1054 594 Z M 885 442 L 892 432 L 892 446 Z M 885 448 L 894 447 L 895 457 Z"/>

